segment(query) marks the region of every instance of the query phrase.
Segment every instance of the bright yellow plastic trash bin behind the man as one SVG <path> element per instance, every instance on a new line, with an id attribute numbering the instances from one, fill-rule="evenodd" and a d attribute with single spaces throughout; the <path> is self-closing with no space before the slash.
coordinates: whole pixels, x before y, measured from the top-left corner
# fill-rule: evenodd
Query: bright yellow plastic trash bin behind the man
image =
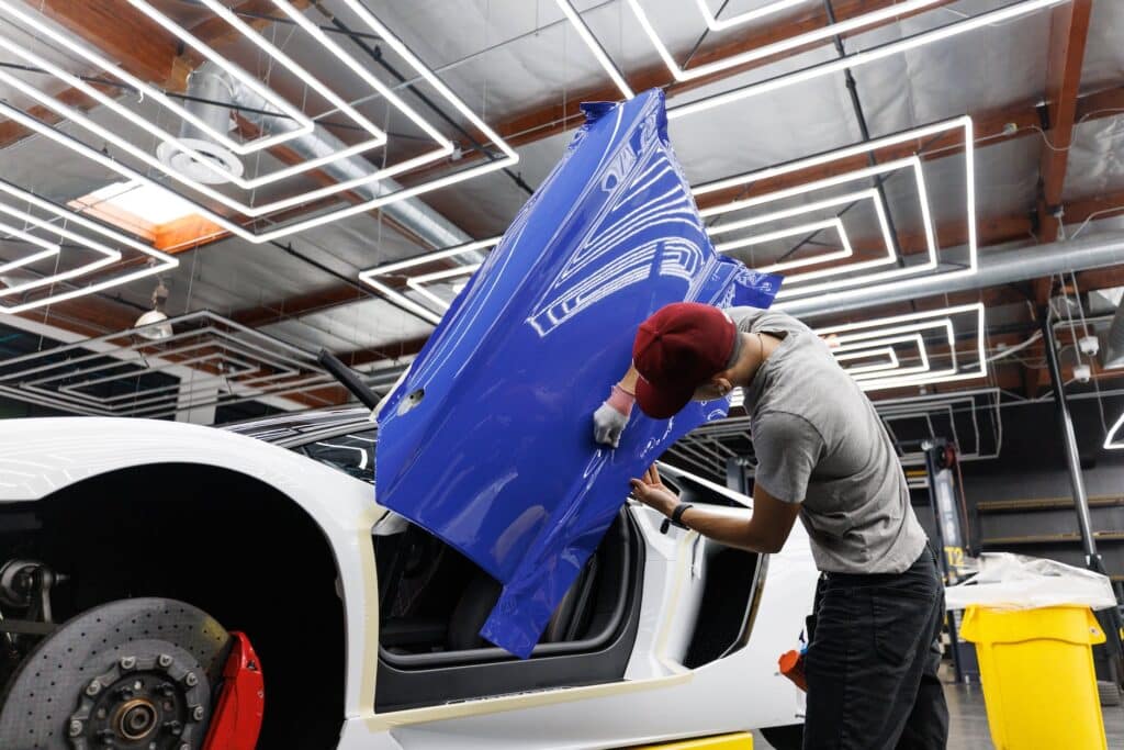
<path id="1" fill-rule="evenodd" d="M 976 643 L 984 703 L 998 750 L 1104 750 L 1088 607 L 968 607 L 960 634 Z"/>

